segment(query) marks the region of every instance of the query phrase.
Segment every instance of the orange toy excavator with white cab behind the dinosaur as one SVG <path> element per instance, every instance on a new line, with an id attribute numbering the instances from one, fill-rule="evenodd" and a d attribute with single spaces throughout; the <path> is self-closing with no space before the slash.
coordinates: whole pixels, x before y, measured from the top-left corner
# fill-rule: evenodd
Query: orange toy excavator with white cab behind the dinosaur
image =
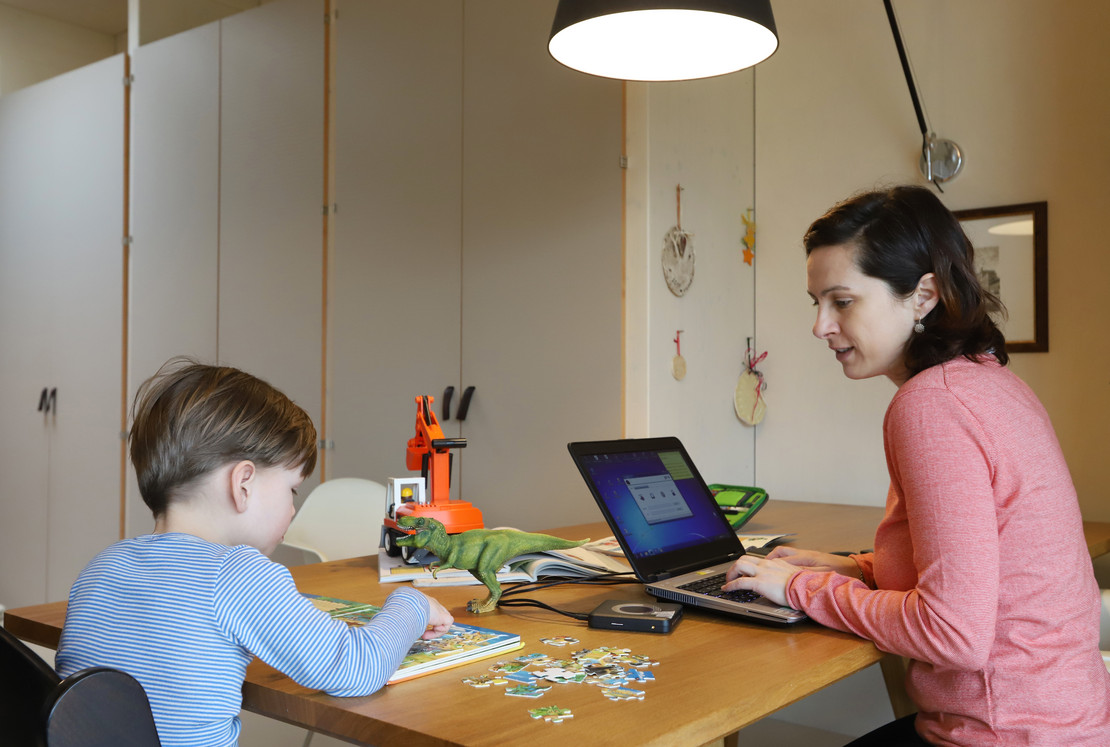
<path id="1" fill-rule="evenodd" d="M 466 438 L 447 438 L 443 435 L 440 421 L 432 411 L 435 397 L 416 397 L 416 435 L 408 440 L 405 467 L 420 470 L 421 480 L 390 478 L 390 505 L 382 527 L 382 545 L 392 556 L 402 555 L 412 559 L 412 548 L 400 547 L 396 538 L 413 534 L 397 525 L 402 516 L 431 516 L 441 522 L 447 534 L 458 534 L 467 529 L 481 529 L 482 511 L 466 501 L 451 499 L 452 448 L 466 446 Z M 406 485 L 395 491 L 395 483 Z M 424 487 L 427 486 L 425 495 Z M 412 491 L 415 487 L 415 493 Z"/>

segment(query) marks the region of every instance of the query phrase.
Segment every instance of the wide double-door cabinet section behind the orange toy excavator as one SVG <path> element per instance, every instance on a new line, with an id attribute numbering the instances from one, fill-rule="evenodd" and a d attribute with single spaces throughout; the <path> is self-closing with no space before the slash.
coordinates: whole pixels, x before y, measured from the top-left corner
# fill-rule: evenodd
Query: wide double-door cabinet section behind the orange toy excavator
<path id="1" fill-rule="evenodd" d="M 443 425 L 491 526 L 596 517 L 566 442 L 620 432 L 620 84 L 547 55 L 554 11 L 339 9 L 329 475 L 407 474 L 414 397 L 474 386 Z"/>

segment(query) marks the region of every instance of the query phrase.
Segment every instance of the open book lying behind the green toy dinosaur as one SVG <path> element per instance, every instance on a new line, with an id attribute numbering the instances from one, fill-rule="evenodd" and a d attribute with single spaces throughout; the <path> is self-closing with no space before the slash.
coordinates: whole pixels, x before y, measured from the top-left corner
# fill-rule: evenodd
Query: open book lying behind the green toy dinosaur
<path id="1" fill-rule="evenodd" d="M 585 547 L 548 549 L 543 553 L 518 555 L 497 572 L 502 584 L 537 581 L 545 576 L 585 578 L 606 573 L 632 573 L 622 559 L 595 553 Z M 413 586 L 473 586 L 478 579 L 470 571 L 444 568 L 432 577 L 427 565 L 407 565 L 400 557 L 390 557 L 384 551 L 377 554 L 377 574 L 383 584 L 411 581 Z"/>

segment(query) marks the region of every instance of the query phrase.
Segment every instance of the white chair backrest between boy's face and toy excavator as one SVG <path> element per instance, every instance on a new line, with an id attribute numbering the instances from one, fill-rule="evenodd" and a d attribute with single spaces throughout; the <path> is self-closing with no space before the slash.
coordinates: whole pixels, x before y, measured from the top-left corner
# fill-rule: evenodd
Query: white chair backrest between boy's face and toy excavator
<path id="1" fill-rule="evenodd" d="M 322 563 L 376 555 L 384 517 L 384 485 L 361 477 L 336 477 L 309 494 L 282 544 Z"/>

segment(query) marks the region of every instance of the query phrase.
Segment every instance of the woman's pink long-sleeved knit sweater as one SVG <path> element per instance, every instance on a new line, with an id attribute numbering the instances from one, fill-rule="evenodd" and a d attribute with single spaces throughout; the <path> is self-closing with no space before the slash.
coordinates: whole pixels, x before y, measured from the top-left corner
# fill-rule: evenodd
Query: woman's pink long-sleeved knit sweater
<path id="1" fill-rule="evenodd" d="M 938 745 L 1110 745 L 1100 597 L 1048 414 L 993 359 L 956 359 L 895 394 L 875 590 L 804 571 L 791 606 L 911 659 L 917 730 Z"/>

